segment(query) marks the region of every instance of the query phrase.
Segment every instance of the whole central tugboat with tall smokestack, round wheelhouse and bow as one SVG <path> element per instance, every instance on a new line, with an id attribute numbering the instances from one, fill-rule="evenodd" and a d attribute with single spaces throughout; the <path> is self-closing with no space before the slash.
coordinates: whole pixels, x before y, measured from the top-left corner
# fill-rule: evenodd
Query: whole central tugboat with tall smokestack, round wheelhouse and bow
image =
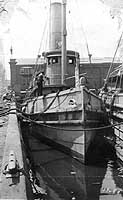
<path id="1" fill-rule="evenodd" d="M 86 163 L 88 148 L 108 118 L 101 98 L 79 75 L 79 53 L 66 49 L 66 0 L 51 2 L 50 12 L 46 73 L 33 76 L 23 102 L 23 123 L 31 124 L 35 137 Z"/>

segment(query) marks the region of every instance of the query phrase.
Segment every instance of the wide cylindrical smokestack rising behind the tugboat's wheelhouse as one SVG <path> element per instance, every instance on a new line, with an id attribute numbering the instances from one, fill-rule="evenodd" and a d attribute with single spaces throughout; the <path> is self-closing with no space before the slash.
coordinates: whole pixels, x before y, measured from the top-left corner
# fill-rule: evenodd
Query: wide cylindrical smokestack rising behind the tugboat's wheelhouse
<path id="1" fill-rule="evenodd" d="M 50 24 L 49 24 L 49 50 L 61 49 L 61 27 L 62 27 L 61 3 L 52 2 L 50 5 Z"/>

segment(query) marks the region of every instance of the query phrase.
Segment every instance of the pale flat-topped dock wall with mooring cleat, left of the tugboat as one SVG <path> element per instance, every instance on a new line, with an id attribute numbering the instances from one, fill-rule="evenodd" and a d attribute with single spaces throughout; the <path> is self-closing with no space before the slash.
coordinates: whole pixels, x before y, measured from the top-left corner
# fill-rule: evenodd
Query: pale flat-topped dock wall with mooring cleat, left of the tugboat
<path id="1" fill-rule="evenodd" d="M 15 108 L 15 105 L 12 104 L 11 108 Z M 0 199 L 32 199 L 31 196 L 27 197 L 27 180 L 25 175 L 20 173 L 17 177 L 15 175 L 9 177 L 11 176 L 9 173 L 3 174 L 5 168 L 8 167 L 10 152 L 14 152 L 14 155 L 18 161 L 19 168 L 24 169 L 24 158 L 20 139 L 20 130 L 15 110 L 10 112 L 8 119 L 7 135 L 0 180 Z M 10 164 L 10 168 L 11 166 L 12 165 Z"/>

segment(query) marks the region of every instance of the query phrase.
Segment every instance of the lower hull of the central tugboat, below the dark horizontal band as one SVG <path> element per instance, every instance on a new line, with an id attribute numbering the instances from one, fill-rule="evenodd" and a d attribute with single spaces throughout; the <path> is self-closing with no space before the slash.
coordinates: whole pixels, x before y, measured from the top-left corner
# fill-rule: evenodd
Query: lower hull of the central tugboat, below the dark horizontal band
<path id="1" fill-rule="evenodd" d="M 81 124 L 36 124 L 32 126 L 31 133 L 82 162 L 85 162 L 86 152 L 96 134 L 95 131 L 84 131 Z"/>

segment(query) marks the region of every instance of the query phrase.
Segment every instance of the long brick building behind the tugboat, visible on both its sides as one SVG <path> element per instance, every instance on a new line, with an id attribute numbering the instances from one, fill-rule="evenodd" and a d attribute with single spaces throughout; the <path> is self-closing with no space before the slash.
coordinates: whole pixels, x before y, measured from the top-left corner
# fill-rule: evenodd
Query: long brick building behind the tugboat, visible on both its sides
<path id="1" fill-rule="evenodd" d="M 94 58 L 91 64 L 88 59 L 80 60 L 80 75 L 85 74 L 89 82 L 90 88 L 99 89 L 103 86 L 104 79 L 111 65 L 112 58 Z M 10 59 L 10 72 L 11 72 L 11 88 L 16 94 L 23 93 L 28 87 L 32 80 L 34 71 L 44 71 L 46 64 L 44 60 L 39 60 L 36 65 L 35 59 Z M 115 60 L 113 67 L 117 67 L 121 62 Z M 74 78 L 70 79 L 71 86 L 73 86 Z"/>

